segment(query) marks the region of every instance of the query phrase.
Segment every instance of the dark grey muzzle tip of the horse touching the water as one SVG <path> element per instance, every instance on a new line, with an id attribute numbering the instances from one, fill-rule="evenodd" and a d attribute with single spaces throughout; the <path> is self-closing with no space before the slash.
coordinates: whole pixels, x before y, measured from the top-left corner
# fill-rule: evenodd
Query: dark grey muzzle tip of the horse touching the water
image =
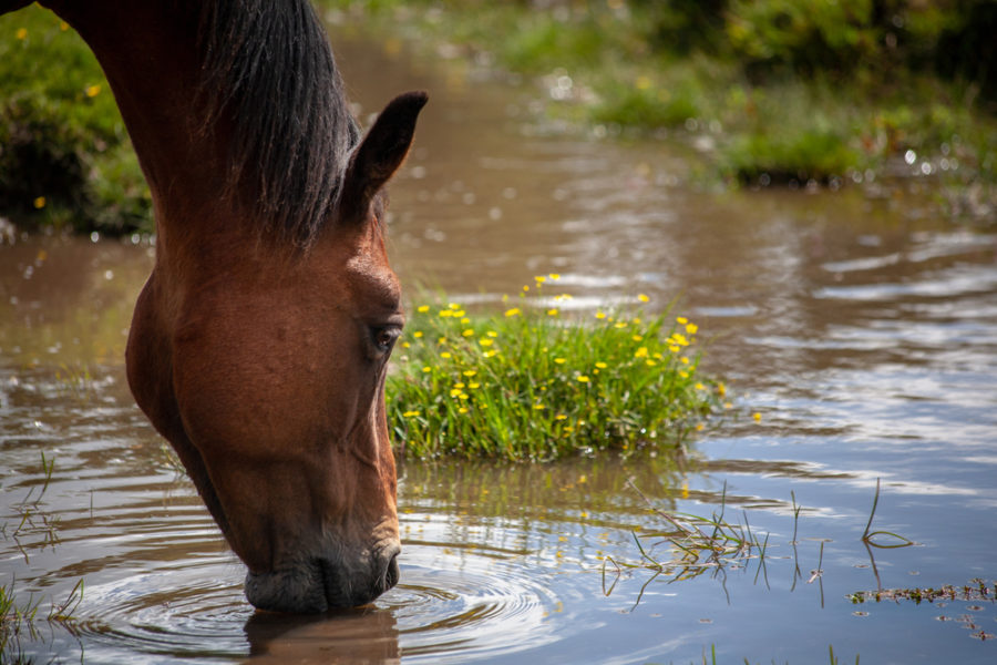
<path id="1" fill-rule="evenodd" d="M 314 559 L 265 573 L 246 574 L 246 598 L 257 610 L 287 614 L 316 614 L 373 602 L 398 583 L 398 553 L 393 544 L 358 562 Z"/>

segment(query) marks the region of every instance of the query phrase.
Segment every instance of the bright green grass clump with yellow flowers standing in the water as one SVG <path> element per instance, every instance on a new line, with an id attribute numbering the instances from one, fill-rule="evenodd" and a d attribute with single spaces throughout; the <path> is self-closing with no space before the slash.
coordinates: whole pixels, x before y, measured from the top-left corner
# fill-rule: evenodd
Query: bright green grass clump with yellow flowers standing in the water
<path id="1" fill-rule="evenodd" d="M 387 386 L 400 452 L 552 460 L 678 447 L 702 429 L 724 388 L 700 376 L 695 324 L 602 310 L 569 320 L 567 297 L 524 295 L 492 315 L 418 306 Z"/>

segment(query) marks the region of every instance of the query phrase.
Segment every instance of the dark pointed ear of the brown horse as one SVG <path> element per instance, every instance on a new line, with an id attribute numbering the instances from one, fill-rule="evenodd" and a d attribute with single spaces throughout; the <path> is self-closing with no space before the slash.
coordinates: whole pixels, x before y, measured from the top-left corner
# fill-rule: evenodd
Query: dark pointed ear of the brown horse
<path id="1" fill-rule="evenodd" d="M 378 115 L 347 165 L 339 200 L 341 219 L 367 218 L 370 202 L 409 154 L 415 119 L 428 99 L 424 92 L 407 92 Z"/>

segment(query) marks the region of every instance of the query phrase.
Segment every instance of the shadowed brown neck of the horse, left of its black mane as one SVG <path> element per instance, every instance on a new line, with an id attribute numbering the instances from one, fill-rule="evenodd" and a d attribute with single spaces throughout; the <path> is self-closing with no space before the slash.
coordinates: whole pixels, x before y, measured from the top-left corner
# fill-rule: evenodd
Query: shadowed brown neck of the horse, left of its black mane
<path id="1" fill-rule="evenodd" d="M 101 63 L 164 225 L 217 206 L 224 147 L 197 113 L 197 9 L 186 0 L 50 0 Z"/>

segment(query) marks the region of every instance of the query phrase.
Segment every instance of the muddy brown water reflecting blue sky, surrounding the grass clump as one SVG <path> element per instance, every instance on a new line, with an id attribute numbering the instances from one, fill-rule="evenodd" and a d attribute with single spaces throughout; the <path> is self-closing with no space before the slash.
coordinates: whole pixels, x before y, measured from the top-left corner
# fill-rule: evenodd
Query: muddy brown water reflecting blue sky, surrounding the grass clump
<path id="1" fill-rule="evenodd" d="M 681 463 L 405 463 L 399 587 L 362 612 L 254 615 L 240 564 L 125 386 L 147 243 L 2 247 L 0 576 L 40 615 L 84 581 L 73 621 L 22 626 L 20 653 L 810 663 L 831 645 L 847 662 L 997 659 L 993 592 L 847 598 L 975 577 L 993 589 L 997 236 L 939 219 L 923 181 L 875 195 L 696 194 L 690 155 L 558 132 L 533 115 L 534 88 L 420 66 L 393 42 L 337 43 L 361 115 L 401 90 L 432 92 L 392 190 L 407 285 L 487 306 L 556 272 L 582 317 L 638 293 L 658 308 L 677 298 L 712 337 L 708 365 L 736 408 Z M 915 545 L 860 541 L 877 478 L 874 528 Z M 610 560 L 641 561 L 635 532 L 665 526 L 628 479 L 661 508 L 722 503 L 765 556 L 677 580 L 617 570 Z"/>

